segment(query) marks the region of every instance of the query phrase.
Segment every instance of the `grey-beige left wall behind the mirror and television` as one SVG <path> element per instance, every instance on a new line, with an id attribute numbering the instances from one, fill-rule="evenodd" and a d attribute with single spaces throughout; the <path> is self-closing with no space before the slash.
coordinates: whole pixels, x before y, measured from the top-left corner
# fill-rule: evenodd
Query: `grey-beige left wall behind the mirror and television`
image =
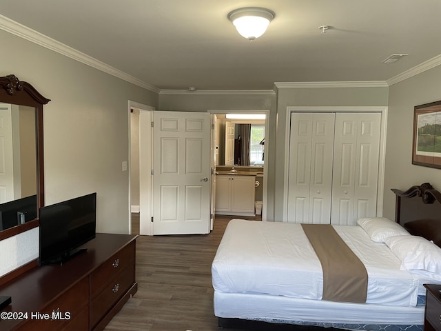
<path id="1" fill-rule="evenodd" d="M 44 108 L 45 203 L 97 192 L 96 230 L 128 233 L 128 100 L 156 107 L 158 95 L 3 30 L 0 40 L 0 76 L 15 74 L 52 100 Z M 32 260 L 31 233 L 19 247 L 1 241 L 0 251 Z"/>

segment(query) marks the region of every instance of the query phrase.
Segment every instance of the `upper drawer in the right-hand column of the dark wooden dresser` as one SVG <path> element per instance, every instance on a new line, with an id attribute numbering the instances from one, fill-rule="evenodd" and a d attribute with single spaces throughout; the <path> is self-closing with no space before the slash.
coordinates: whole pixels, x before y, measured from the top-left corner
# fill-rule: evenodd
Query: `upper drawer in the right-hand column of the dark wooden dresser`
<path id="1" fill-rule="evenodd" d="M 90 275 L 90 293 L 92 293 L 92 299 L 96 297 L 121 270 L 127 268 L 128 265 L 132 265 L 132 268 L 134 268 L 134 260 L 135 242 L 133 241 L 94 270 Z"/>

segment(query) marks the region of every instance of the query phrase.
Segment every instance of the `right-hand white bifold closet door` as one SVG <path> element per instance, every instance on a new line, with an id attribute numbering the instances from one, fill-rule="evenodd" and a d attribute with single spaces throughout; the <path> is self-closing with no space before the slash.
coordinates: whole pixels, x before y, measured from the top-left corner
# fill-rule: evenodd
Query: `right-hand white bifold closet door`
<path id="1" fill-rule="evenodd" d="M 331 224 L 376 216 L 381 114 L 336 114 Z"/>

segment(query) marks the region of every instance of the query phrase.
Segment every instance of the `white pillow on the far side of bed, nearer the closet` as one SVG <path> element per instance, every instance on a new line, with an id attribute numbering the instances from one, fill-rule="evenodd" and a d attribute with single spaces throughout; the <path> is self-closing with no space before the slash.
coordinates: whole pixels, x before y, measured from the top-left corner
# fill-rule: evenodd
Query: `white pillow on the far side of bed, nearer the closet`
<path id="1" fill-rule="evenodd" d="M 377 243 L 384 243 L 387 237 L 410 235 L 400 224 L 384 217 L 358 219 L 357 223 Z"/>

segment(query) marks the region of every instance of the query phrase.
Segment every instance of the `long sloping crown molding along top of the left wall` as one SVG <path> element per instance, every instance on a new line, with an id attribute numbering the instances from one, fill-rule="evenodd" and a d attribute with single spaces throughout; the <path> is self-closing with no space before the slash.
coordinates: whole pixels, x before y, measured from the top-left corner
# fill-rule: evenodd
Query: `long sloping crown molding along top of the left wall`
<path id="1" fill-rule="evenodd" d="M 71 59 L 84 63 L 87 66 L 101 70 L 107 74 L 111 74 L 114 77 L 123 79 L 124 81 L 132 83 L 136 86 L 145 88 L 146 90 L 150 90 L 155 93 L 159 93 L 161 91 L 159 88 L 156 88 L 156 86 L 145 83 L 145 81 L 141 81 L 141 79 L 137 79 L 130 74 L 126 74 L 125 72 L 94 59 L 83 52 L 79 52 L 79 50 L 75 50 L 74 48 L 47 37 L 40 32 L 32 30 L 27 26 L 23 26 L 16 21 L 12 21 L 12 19 L 8 19 L 8 17 L 4 17 L 3 15 L 0 15 L 0 29 L 14 34 L 17 37 L 31 41 L 32 43 L 36 43 L 39 46 L 43 46 L 44 48 L 48 48 L 48 50 L 53 50 L 54 52 L 64 55 L 65 57 L 70 57 Z"/>

